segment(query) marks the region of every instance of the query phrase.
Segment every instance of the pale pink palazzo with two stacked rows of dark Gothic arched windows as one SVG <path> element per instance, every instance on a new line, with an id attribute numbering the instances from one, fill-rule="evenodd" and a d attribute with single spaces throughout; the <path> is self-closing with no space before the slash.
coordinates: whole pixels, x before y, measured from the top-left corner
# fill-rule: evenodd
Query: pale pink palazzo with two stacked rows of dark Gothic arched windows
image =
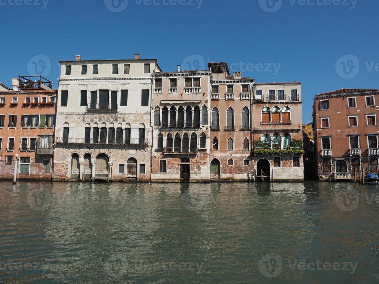
<path id="1" fill-rule="evenodd" d="M 152 181 L 209 182 L 210 72 L 153 73 Z"/>

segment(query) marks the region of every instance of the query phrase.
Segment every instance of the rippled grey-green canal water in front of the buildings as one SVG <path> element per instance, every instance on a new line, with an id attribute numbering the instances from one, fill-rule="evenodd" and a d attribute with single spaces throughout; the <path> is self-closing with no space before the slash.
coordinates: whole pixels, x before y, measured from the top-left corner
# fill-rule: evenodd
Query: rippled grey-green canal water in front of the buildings
<path id="1" fill-rule="evenodd" d="M 0 183 L 0 282 L 379 281 L 379 191 L 350 183 Z"/>

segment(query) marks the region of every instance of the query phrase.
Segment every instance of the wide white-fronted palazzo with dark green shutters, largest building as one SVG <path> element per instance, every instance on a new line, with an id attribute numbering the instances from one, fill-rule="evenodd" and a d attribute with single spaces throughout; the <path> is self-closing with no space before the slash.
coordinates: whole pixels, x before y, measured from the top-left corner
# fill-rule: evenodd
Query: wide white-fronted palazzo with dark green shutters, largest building
<path id="1" fill-rule="evenodd" d="M 54 180 L 150 181 L 157 59 L 60 63 Z"/>

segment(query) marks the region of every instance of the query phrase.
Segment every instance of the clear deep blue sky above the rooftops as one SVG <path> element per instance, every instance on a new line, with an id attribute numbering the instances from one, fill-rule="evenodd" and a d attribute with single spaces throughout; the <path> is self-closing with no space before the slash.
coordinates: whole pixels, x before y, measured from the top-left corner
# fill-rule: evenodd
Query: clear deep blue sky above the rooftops
<path id="1" fill-rule="evenodd" d="M 379 89 L 378 10 L 373 0 L 0 0 L 0 81 L 37 65 L 56 87 L 57 61 L 75 55 L 202 69 L 210 46 L 210 61 L 258 83 L 302 82 L 309 122 L 316 94 Z"/>

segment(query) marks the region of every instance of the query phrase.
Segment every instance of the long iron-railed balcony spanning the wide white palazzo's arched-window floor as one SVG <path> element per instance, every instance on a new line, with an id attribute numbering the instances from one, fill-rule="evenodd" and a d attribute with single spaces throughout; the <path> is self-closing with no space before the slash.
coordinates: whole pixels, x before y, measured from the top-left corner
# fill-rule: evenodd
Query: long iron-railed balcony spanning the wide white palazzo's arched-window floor
<path id="1" fill-rule="evenodd" d="M 56 144 L 92 144 L 92 145 L 147 145 L 148 140 L 147 139 L 139 139 L 139 138 L 131 138 L 124 140 L 113 140 L 113 141 L 107 141 L 107 139 L 97 139 L 94 140 L 93 138 L 56 138 L 55 140 Z"/>

